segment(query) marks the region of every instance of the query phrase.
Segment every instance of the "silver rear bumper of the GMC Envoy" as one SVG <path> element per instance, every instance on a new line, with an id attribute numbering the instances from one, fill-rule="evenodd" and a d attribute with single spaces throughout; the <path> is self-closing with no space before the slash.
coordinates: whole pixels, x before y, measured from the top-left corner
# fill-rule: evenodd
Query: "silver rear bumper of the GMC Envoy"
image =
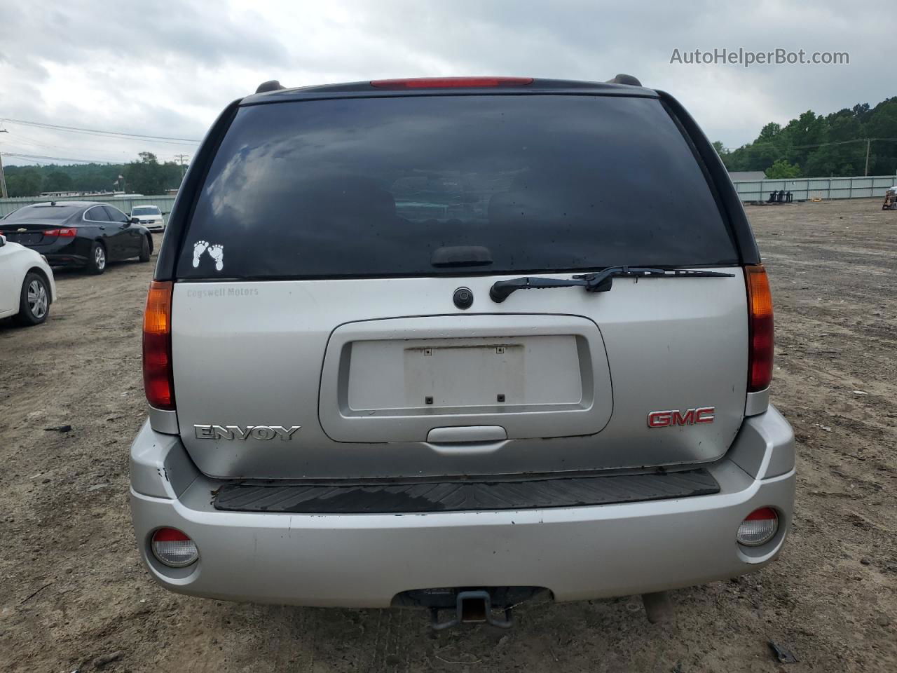
<path id="1" fill-rule="evenodd" d="M 177 437 L 148 424 L 132 447 L 131 510 L 153 578 L 180 593 L 309 606 L 385 607 L 440 587 L 544 587 L 557 600 L 675 589 L 752 572 L 781 549 L 794 501 L 794 443 L 771 408 L 745 420 L 710 467 L 721 491 L 647 503 L 425 514 L 216 511 L 216 483 Z M 776 538 L 737 545 L 738 524 L 779 511 Z M 200 558 L 171 570 L 148 553 L 152 531 L 183 530 Z"/>

